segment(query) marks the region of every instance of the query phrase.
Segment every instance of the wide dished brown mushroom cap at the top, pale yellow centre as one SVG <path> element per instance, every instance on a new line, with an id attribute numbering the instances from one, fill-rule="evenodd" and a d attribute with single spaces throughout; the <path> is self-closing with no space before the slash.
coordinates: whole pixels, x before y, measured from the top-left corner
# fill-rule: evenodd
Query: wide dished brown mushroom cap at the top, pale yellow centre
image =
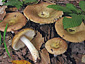
<path id="1" fill-rule="evenodd" d="M 48 5 L 53 3 L 41 2 L 39 4 L 28 5 L 24 9 L 24 15 L 35 23 L 49 24 L 56 21 L 57 18 L 63 15 L 62 11 L 57 11 L 52 8 L 47 8 Z M 40 17 L 39 15 L 46 15 L 45 17 Z"/>

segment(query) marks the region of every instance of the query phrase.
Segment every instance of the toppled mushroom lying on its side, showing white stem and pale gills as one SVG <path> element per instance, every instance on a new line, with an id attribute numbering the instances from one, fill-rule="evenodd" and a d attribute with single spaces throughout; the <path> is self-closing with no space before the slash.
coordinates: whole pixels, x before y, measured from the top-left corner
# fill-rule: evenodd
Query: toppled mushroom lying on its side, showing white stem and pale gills
<path id="1" fill-rule="evenodd" d="M 25 28 L 21 30 L 14 36 L 12 40 L 12 48 L 14 50 L 19 50 L 26 45 L 33 57 L 33 61 L 37 62 L 37 60 L 40 59 L 39 53 L 34 45 L 30 42 L 34 36 L 35 31 L 33 29 Z"/>

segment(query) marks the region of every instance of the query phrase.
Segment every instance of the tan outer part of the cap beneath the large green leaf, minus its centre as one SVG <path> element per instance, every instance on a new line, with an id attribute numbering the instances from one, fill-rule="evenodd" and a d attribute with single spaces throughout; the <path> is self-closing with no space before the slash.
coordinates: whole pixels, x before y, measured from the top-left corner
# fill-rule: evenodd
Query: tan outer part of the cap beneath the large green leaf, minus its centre
<path id="1" fill-rule="evenodd" d="M 75 34 L 70 34 L 64 29 L 62 21 L 63 21 L 63 17 L 55 23 L 55 29 L 56 32 L 63 39 L 74 43 L 82 42 L 85 40 L 85 25 L 83 22 L 81 23 L 80 26 L 78 26 L 78 32 L 76 32 Z"/>

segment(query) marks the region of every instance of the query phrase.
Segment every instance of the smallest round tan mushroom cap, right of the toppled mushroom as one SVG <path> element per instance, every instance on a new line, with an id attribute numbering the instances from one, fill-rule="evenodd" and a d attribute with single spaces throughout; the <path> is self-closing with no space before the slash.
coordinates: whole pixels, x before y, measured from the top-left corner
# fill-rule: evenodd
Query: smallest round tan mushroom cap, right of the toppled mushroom
<path id="1" fill-rule="evenodd" d="M 59 48 L 53 48 L 51 46 L 55 42 L 59 43 Z M 54 55 L 63 54 L 67 50 L 67 47 L 68 47 L 67 43 L 61 38 L 52 38 L 48 40 L 45 44 L 45 48 L 47 49 L 47 51 Z"/>

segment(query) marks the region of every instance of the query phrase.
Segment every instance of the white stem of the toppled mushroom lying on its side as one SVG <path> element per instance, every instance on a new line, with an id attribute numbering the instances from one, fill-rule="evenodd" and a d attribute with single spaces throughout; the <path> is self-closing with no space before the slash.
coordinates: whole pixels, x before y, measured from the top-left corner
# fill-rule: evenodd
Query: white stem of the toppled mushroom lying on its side
<path id="1" fill-rule="evenodd" d="M 33 57 L 33 61 L 37 62 L 37 60 L 40 59 L 40 57 L 39 57 L 39 53 L 38 53 L 37 49 L 34 47 L 34 45 L 25 36 L 22 36 L 20 38 L 20 40 L 28 47 L 28 49 Z"/>

